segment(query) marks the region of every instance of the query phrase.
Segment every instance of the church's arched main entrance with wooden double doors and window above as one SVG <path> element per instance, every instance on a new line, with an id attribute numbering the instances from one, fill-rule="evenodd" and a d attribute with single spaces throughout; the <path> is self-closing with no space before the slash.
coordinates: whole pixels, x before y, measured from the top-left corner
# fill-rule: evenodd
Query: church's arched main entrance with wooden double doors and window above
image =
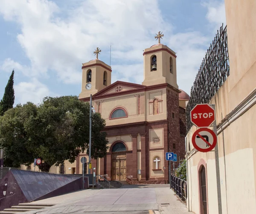
<path id="1" fill-rule="evenodd" d="M 126 146 L 122 142 L 113 144 L 112 164 L 111 164 L 111 180 L 126 180 Z"/>

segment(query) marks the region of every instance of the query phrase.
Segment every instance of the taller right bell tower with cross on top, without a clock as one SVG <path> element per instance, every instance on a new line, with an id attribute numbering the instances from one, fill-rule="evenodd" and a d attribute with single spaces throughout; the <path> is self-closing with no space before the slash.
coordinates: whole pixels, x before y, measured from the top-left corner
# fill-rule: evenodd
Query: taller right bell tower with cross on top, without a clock
<path id="1" fill-rule="evenodd" d="M 178 89 L 176 73 L 175 52 L 160 43 L 163 34 L 158 32 L 155 38 L 157 45 L 145 49 L 144 56 L 144 81 L 145 86 L 168 83 Z"/>

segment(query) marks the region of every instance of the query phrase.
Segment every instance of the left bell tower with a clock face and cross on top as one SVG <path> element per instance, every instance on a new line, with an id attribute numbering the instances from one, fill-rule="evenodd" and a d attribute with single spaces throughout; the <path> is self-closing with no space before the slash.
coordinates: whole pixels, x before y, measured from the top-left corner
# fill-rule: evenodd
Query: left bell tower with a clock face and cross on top
<path id="1" fill-rule="evenodd" d="M 82 90 L 79 99 L 90 97 L 111 84 L 111 67 L 98 59 L 99 48 L 93 52 L 95 60 L 82 64 Z"/>

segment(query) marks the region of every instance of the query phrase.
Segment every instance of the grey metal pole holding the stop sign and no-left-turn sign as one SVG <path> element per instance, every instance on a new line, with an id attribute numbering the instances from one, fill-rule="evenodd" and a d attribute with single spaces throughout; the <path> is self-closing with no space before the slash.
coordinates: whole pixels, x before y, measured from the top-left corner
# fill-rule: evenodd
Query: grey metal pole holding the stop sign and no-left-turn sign
<path id="1" fill-rule="evenodd" d="M 211 106 L 215 110 L 215 104 L 212 104 Z M 216 118 L 216 116 L 215 116 L 215 118 Z M 216 120 L 213 123 L 213 131 L 217 137 L 218 135 L 217 135 Z M 216 182 L 217 182 L 217 196 L 218 196 L 218 213 L 222 214 L 220 165 L 219 165 L 219 156 L 218 156 L 218 137 L 217 137 L 217 143 L 216 143 L 214 150 L 215 150 L 215 167 L 216 167 Z"/>

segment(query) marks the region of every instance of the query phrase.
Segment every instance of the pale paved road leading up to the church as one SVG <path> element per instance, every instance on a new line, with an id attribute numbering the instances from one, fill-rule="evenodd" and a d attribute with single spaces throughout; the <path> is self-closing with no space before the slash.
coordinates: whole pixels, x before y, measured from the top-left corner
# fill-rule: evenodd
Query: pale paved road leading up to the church
<path id="1" fill-rule="evenodd" d="M 189 214 L 169 185 L 129 185 L 119 189 L 84 190 L 33 203 L 56 205 L 27 213 L 154 214 L 160 211 L 163 214 Z"/>

